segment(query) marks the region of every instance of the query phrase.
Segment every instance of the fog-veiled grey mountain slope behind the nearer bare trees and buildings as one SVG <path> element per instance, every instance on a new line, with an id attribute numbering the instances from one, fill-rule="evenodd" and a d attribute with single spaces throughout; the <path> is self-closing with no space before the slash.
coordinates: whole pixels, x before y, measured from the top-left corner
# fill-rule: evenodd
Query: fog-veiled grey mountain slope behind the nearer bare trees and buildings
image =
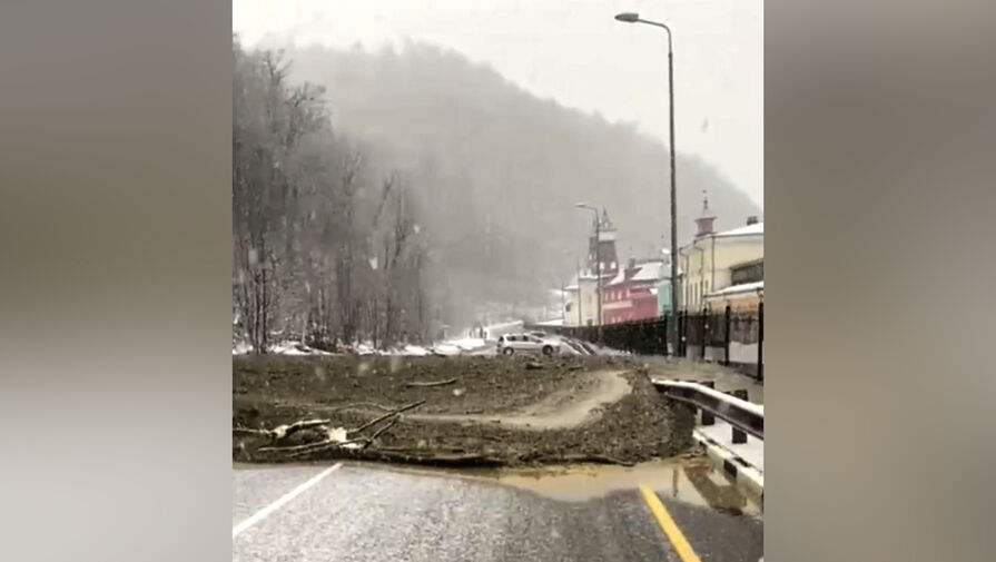
<path id="1" fill-rule="evenodd" d="M 296 80 L 326 88 L 334 127 L 389 147 L 414 176 L 448 283 L 467 299 L 532 300 L 533 288 L 572 275 L 591 224 L 578 201 L 608 208 L 623 259 L 667 243 L 668 150 L 630 125 L 539 99 L 432 46 L 287 55 Z M 703 190 L 717 228 L 760 214 L 708 164 L 679 152 L 680 241 L 692 233 Z"/>

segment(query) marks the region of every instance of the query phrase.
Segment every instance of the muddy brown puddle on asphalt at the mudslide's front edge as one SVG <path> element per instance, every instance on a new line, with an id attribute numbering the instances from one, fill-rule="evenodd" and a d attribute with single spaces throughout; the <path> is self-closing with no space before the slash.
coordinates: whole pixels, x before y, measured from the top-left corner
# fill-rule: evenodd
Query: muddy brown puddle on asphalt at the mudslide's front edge
<path id="1" fill-rule="evenodd" d="M 759 515 L 757 503 L 702 457 L 669 459 L 635 466 L 574 465 L 501 470 L 500 483 L 561 501 L 586 501 L 645 485 L 662 497 L 734 514 Z"/>

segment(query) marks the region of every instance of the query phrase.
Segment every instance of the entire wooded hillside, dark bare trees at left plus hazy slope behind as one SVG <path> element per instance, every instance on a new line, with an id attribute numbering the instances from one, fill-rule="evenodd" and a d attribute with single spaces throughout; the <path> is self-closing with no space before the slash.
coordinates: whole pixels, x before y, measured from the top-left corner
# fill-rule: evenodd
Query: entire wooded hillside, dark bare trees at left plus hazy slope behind
<path id="1" fill-rule="evenodd" d="M 664 241 L 667 148 L 632 126 L 430 46 L 233 49 L 233 292 L 257 348 L 391 345 L 541 304 L 584 255 L 576 201 L 608 208 L 623 258 Z M 678 181 L 682 240 L 703 189 L 719 228 L 759 213 L 680 152 Z"/>

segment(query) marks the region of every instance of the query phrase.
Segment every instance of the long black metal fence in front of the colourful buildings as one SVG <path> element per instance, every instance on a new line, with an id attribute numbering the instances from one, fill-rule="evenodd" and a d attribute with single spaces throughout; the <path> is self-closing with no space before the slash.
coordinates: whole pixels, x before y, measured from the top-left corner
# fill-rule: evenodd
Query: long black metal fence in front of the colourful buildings
<path id="1" fill-rule="evenodd" d="M 639 355 L 673 355 L 742 367 L 758 381 L 765 378 L 765 305 L 757 310 L 682 310 L 657 318 L 600 326 L 535 326 L 548 332 L 599 343 Z M 601 328 L 601 338 L 599 331 Z M 668 343 L 677 328 L 677 348 Z M 600 341 L 601 339 L 601 341 Z"/>

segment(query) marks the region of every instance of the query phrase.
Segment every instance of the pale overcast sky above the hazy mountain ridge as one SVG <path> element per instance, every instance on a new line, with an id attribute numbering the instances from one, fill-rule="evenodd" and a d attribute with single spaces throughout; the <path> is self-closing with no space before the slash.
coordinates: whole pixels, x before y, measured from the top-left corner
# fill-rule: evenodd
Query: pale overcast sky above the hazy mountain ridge
<path id="1" fill-rule="evenodd" d="M 613 20 L 620 11 L 674 32 L 678 150 L 763 206 L 761 0 L 234 0 L 233 30 L 249 47 L 267 34 L 341 48 L 448 47 L 536 96 L 667 142 L 667 33 Z"/>

